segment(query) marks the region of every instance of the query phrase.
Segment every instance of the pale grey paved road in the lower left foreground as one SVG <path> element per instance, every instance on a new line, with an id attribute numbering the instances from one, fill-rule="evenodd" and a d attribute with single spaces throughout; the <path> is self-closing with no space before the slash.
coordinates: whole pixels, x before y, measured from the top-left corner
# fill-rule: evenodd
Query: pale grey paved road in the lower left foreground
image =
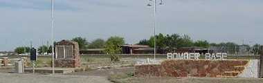
<path id="1" fill-rule="evenodd" d="M 107 77 L 0 73 L 0 83 L 111 83 Z"/>

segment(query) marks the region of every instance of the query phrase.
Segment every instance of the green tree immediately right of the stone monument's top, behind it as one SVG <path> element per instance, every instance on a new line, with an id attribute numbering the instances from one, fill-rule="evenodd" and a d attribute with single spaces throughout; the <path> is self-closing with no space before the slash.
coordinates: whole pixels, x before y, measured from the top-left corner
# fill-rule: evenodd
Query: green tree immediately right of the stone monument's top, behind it
<path id="1" fill-rule="evenodd" d="M 87 42 L 87 39 L 85 39 L 83 37 L 75 37 L 75 38 L 72 39 L 72 41 L 78 42 L 80 50 L 86 49 L 87 46 L 89 45 L 89 42 Z"/>

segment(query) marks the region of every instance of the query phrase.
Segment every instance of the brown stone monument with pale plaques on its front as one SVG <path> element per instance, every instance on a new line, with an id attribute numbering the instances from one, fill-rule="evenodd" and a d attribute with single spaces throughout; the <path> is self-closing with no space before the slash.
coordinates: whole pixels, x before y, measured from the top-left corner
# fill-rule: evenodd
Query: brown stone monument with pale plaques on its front
<path id="1" fill-rule="evenodd" d="M 78 42 L 62 40 L 55 44 L 55 67 L 80 67 L 80 50 Z"/>

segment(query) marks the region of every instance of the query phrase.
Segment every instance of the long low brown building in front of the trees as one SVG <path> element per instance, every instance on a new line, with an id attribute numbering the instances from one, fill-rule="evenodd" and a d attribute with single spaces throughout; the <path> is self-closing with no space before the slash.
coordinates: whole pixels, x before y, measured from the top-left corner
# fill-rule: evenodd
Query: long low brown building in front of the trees
<path id="1" fill-rule="evenodd" d="M 146 45 L 134 45 L 127 44 L 122 45 L 122 54 L 154 54 L 154 48 L 151 48 Z M 95 49 L 87 49 L 80 50 L 80 54 L 105 54 L 105 48 L 95 48 Z M 213 50 L 209 50 L 212 53 Z M 208 53 L 207 48 L 201 47 L 183 47 L 175 49 L 174 51 L 169 51 L 167 48 L 156 48 L 156 54 L 166 54 L 166 53 L 200 53 L 205 54 Z"/>

